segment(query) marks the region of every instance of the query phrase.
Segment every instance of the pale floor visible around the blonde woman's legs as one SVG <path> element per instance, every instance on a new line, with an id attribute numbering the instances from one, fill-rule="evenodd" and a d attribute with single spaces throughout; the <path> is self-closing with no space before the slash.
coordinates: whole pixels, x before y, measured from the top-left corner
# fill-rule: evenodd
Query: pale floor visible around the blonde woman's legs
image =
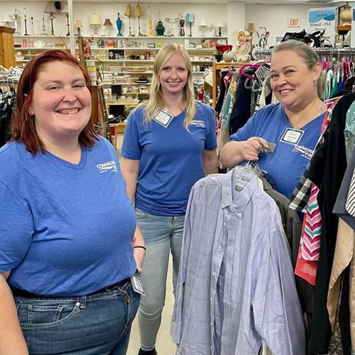
<path id="1" fill-rule="evenodd" d="M 123 140 L 123 134 L 117 135 L 117 150 L 119 153 L 119 160 L 122 166 L 121 159 L 121 145 Z M 175 354 L 176 345 L 171 340 L 170 336 L 170 323 L 171 314 L 173 313 L 173 284 L 172 284 L 172 266 L 169 265 L 168 278 L 167 278 L 167 297 L 165 299 L 165 306 L 162 312 L 162 323 L 158 332 L 158 338 L 156 341 L 156 350 L 158 355 L 173 355 Z M 128 347 L 127 355 L 137 355 L 140 347 L 139 342 L 139 330 L 138 330 L 138 317 L 134 320 L 132 326 L 132 332 L 130 337 L 130 345 Z"/>

